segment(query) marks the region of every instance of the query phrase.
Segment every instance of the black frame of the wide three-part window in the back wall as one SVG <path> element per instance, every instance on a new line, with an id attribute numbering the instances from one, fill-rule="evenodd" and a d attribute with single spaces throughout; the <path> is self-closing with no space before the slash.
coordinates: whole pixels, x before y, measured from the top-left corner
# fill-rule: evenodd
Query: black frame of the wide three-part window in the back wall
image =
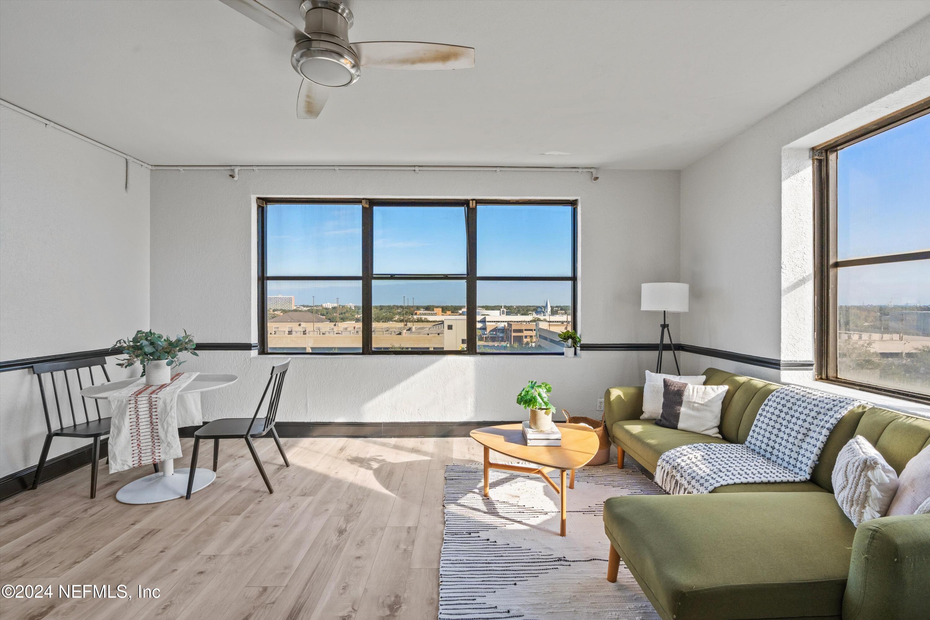
<path id="1" fill-rule="evenodd" d="M 578 200 L 507 200 L 507 199 L 383 199 L 383 198 L 258 198 L 258 292 L 259 292 L 259 355 L 527 355 L 534 357 L 562 355 L 558 351 L 480 351 L 478 350 L 478 283 L 485 282 L 570 282 L 571 322 L 568 329 L 578 331 Z M 277 276 L 266 273 L 268 206 L 272 204 L 362 204 L 362 275 L 361 276 Z M 564 205 L 571 207 L 571 275 L 570 276 L 479 276 L 477 274 L 479 204 Z M 460 274 L 373 273 L 374 270 L 374 209 L 379 206 L 461 206 L 465 209 L 467 236 L 467 270 Z M 466 283 L 465 350 L 373 350 L 372 348 L 372 283 L 385 280 L 457 280 Z M 352 281 L 362 283 L 362 350 L 346 352 L 287 352 L 268 350 L 268 282 L 277 281 Z"/>

